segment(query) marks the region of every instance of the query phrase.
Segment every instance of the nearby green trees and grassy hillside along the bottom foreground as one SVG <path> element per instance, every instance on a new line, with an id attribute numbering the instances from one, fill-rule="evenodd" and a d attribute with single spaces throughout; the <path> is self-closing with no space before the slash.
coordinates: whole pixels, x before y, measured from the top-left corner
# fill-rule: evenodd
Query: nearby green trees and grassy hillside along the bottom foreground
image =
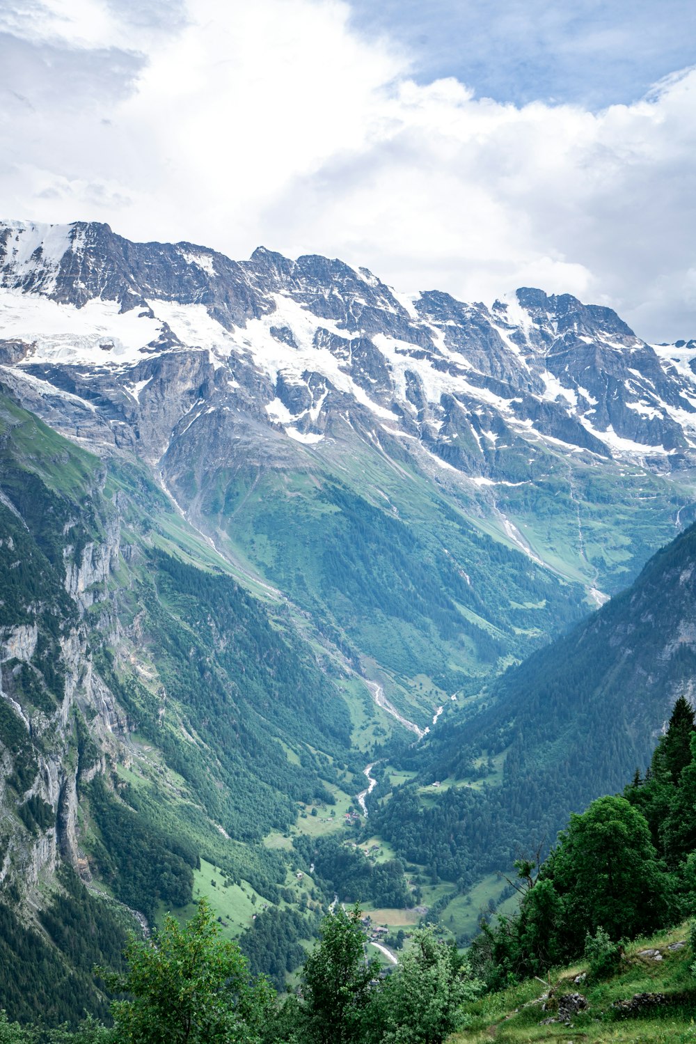
<path id="1" fill-rule="evenodd" d="M 153 939 L 131 939 L 120 971 L 99 970 L 121 995 L 113 1029 L 90 1021 L 46 1044 L 445 1044 L 453 1033 L 460 1044 L 491 1035 L 532 1042 L 556 1039 L 554 1026 L 592 1041 L 687 1041 L 696 1012 L 695 803 L 694 712 L 679 697 L 645 777 L 571 815 L 543 862 L 515 860 L 519 909 L 483 921 L 467 956 L 419 928 L 385 974 L 366 959 L 359 904 L 336 902 L 301 989 L 282 999 L 249 974 L 254 956 L 247 964 L 220 938 L 202 900 L 184 927 L 168 917 Z M 328 869 L 337 858 L 338 850 L 322 853 Z M 626 996 L 635 987 L 644 989 Z M 3 1026 L 14 1044 L 37 1040 L 31 1027 Z"/>

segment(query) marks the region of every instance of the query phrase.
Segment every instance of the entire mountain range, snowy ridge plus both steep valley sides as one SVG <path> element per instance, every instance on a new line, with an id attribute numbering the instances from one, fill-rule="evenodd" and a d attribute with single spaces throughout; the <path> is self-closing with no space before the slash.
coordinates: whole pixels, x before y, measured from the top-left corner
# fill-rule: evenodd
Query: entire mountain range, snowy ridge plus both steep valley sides
<path id="1" fill-rule="evenodd" d="M 217 879 L 283 981 L 365 762 L 463 938 L 691 691 L 695 361 L 568 294 L 0 223 L 0 972 L 50 942 L 54 1016 L 98 1011 L 86 886 L 117 938 Z"/>

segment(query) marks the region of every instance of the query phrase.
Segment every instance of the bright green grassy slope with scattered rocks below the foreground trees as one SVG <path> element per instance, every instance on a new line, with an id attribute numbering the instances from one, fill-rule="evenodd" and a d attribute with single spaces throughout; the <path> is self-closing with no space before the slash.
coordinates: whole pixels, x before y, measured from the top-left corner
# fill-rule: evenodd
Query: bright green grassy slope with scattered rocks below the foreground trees
<path id="1" fill-rule="evenodd" d="M 696 978 L 690 971 L 694 954 L 690 946 L 670 951 L 670 944 L 688 940 L 688 925 L 657 932 L 637 940 L 626 949 L 626 956 L 617 974 L 602 982 L 576 983 L 577 975 L 586 971 L 578 964 L 550 973 L 555 997 L 580 992 L 589 1001 L 585 1013 L 572 1019 L 572 1026 L 539 1025 L 553 1011 L 542 1011 L 547 990 L 537 979 L 530 979 L 482 997 L 469 1005 L 471 1026 L 454 1034 L 448 1044 L 484 1044 L 491 1040 L 500 1044 L 536 1044 L 545 1041 L 573 1041 L 574 1044 L 679 1044 L 696 1040 Z M 664 959 L 641 955 L 642 950 L 658 949 Z M 663 993 L 668 1003 L 646 1009 L 643 1013 L 622 1017 L 611 1007 L 614 1001 L 629 1000 L 638 993 Z"/>

